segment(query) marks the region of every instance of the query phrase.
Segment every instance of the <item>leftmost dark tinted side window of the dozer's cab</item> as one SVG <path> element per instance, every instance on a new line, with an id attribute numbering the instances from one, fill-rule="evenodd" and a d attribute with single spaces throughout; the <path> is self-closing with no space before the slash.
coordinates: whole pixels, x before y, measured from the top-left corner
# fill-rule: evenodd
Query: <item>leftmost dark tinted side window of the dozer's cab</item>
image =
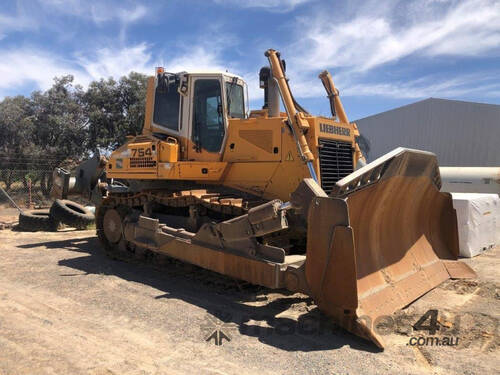
<path id="1" fill-rule="evenodd" d="M 153 121 L 155 124 L 171 130 L 179 130 L 179 102 L 177 91 L 179 82 L 159 77 L 155 91 Z"/>

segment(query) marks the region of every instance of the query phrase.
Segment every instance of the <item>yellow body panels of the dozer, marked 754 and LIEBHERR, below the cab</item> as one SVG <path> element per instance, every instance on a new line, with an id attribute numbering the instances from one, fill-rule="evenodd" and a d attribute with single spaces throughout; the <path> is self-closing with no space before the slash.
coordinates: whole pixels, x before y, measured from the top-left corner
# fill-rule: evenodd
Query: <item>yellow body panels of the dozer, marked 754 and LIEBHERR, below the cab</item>
<path id="1" fill-rule="evenodd" d="M 309 117 L 307 120 L 310 128 L 306 139 L 315 157 L 318 178 L 322 178 L 320 139 L 349 144 L 354 169 L 355 125 L 325 117 Z M 230 119 L 223 151 L 211 158 L 202 152 L 201 160 L 186 160 L 177 142 L 191 144 L 186 139 L 162 141 L 147 133 L 131 139 L 111 155 L 108 177 L 190 180 L 225 185 L 264 199 L 282 200 L 288 200 L 302 179 L 310 177 L 286 125 L 286 116 Z"/>

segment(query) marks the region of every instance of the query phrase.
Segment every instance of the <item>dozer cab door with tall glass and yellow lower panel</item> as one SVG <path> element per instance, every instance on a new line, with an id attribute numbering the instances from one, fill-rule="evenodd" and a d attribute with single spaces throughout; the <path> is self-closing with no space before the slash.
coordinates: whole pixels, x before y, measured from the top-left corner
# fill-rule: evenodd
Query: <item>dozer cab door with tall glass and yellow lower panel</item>
<path id="1" fill-rule="evenodd" d="M 219 161 L 226 138 L 221 78 L 193 77 L 188 160 Z"/>

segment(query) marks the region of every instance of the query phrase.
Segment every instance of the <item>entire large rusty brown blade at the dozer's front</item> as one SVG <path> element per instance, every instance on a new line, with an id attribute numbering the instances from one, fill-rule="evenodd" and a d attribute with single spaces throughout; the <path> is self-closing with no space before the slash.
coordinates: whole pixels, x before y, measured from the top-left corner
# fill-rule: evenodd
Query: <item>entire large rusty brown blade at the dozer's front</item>
<path id="1" fill-rule="evenodd" d="M 440 193 L 432 153 L 398 148 L 313 199 L 306 280 L 319 308 L 383 348 L 377 318 L 448 278 L 474 277 L 457 262 L 455 210 Z"/>

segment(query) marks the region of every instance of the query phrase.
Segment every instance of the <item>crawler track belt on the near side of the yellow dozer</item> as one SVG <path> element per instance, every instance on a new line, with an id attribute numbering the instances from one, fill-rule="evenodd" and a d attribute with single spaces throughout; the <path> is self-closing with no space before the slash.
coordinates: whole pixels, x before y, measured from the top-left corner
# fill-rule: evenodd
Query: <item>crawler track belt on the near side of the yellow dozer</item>
<path id="1" fill-rule="evenodd" d="M 218 199 L 217 199 L 218 198 Z M 179 261 L 178 258 L 166 255 L 161 251 L 154 251 L 147 246 L 138 246 L 123 236 L 124 224 L 134 216 L 134 209 L 148 202 L 167 203 L 169 207 L 189 207 L 202 204 L 204 207 L 227 215 L 247 212 L 249 207 L 262 200 L 235 199 L 224 194 L 209 193 L 205 190 L 185 190 L 167 194 L 164 192 L 144 192 L 140 194 L 111 194 L 103 199 L 96 212 L 97 235 L 106 254 L 116 260 L 129 263 L 147 264 L 153 268 L 166 272 L 169 276 L 183 276 L 196 282 L 214 287 L 218 290 L 254 293 L 266 286 L 259 282 L 249 282 L 245 279 L 228 277 L 223 273 Z M 231 209 L 232 208 L 232 209 Z M 144 216 L 142 217 L 145 218 Z M 152 219 L 152 218 L 149 218 Z M 133 220 L 137 220 L 135 215 Z M 154 219 L 152 219 L 154 220 Z M 184 231 L 178 230 L 182 238 Z M 184 232 L 186 233 L 186 232 Z M 267 285 L 269 287 L 271 285 Z"/>

